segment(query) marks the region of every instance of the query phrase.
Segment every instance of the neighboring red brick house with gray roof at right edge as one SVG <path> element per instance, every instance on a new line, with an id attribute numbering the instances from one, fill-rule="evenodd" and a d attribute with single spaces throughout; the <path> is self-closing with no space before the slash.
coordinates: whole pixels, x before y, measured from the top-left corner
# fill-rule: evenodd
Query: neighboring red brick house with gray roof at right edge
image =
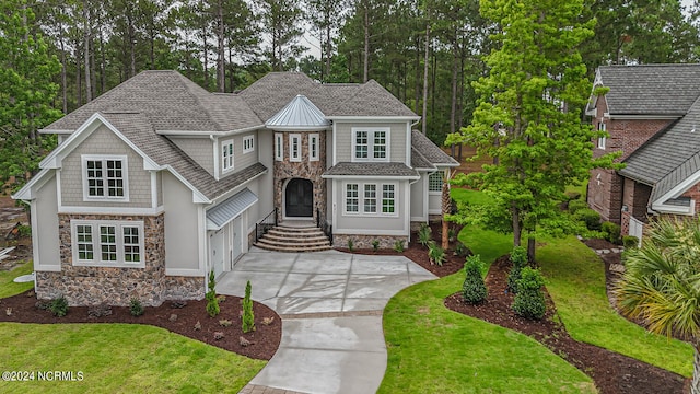
<path id="1" fill-rule="evenodd" d="M 700 204 L 700 65 L 605 66 L 586 114 L 609 138 L 593 154 L 621 151 L 625 169 L 593 170 L 587 199 L 603 220 L 641 239 L 651 216 L 695 216 Z M 699 127 L 696 129 L 696 127 Z"/>

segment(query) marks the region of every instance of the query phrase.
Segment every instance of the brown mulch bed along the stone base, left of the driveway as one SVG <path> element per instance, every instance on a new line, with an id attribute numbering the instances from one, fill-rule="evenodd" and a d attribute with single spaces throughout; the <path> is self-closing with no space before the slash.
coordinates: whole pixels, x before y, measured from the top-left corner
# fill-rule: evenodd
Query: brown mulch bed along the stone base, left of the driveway
<path id="1" fill-rule="evenodd" d="M 30 290 L 22 294 L 13 296 L 0 300 L 0 322 L 14 323 L 131 323 L 149 324 L 165 328 L 209 344 L 238 355 L 254 359 L 269 360 L 272 358 L 282 338 L 282 324 L 280 317 L 264 304 L 253 302 L 253 313 L 255 315 L 254 332 L 243 334 L 241 329 L 241 306 L 242 299 L 226 296 L 219 305 L 221 313 L 215 317 L 209 317 L 206 311 L 207 301 L 187 301 L 183 308 L 176 308 L 173 302 L 166 301 L 160 306 L 144 306 L 141 316 L 132 316 L 127 306 L 112 306 L 112 314 L 104 317 L 91 317 L 88 315 L 89 308 L 71 306 L 68 314 L 62 317 L 55 317 L 51 312 L 40 310 L 36 306 L 37 300 L 34 291 Z M 12 308 L 12 314 L 7 315 L 7 309 Z M 176 318 L 171 318 L 177 315 Z M 265 318 L 272 318 L 269 325 L 262 324 Z M 224 327 L 219 321 L 229 320 L 231 326 Z M 196 329 L 197 322 L 201 325 Z M 214 339 L 214 333 L 221 332 L 224 337 Z M 240 337 L 250 343 L 242 346 Z"/>

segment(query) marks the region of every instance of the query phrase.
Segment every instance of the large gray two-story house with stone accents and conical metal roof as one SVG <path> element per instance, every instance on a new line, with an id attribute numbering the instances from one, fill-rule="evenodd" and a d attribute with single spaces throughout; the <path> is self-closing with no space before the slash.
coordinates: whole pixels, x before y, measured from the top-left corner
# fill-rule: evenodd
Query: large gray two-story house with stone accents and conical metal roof
<path id="1" fill-rule="evenodd" d="M 270 73 L 237 94 L 144 71 L 42 132 L 59 146 L 13 198 L 31 205 L 39 299 L 201 299 L 277 216 L 336 245 L 409 241 L 457 162 L 374 81 Z"/>

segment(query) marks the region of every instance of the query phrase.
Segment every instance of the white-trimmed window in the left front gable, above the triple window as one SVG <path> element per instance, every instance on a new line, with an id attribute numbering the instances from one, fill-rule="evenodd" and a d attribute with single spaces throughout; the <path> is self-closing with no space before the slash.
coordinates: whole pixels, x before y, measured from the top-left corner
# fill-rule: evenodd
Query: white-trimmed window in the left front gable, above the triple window
<path id="1" fill-rule="evenodd" d="M 126 155 L 82 155 L 83 199 L 128 201 Z"/>

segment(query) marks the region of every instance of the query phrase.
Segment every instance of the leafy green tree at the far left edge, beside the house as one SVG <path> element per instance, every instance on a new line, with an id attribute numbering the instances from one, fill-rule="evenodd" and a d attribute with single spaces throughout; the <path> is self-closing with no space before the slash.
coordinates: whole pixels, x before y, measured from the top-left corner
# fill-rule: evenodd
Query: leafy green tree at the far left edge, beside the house
<path id="1" fill-rule="evenodd" d="M 55 139 L 38 130 L 60 117 L 50 104 L 58 92 L 60 63 L 30 28 L 34 14 L 25 0 L 0 2 L 0 185 L 18 186 L 36 172 Z"/>

